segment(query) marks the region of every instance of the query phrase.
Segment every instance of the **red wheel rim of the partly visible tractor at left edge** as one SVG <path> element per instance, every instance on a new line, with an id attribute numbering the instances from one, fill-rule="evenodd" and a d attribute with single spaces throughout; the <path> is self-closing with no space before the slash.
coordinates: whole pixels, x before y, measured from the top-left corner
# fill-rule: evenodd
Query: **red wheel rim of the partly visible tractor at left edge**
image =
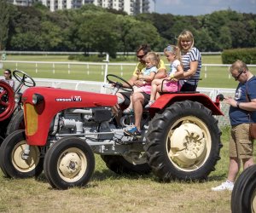
<path id="1" fill-rule="evenodd" d="M 9 85 L 0 81 L 0 121 L 9 118 L 15 110 L 15 92 Z"/>

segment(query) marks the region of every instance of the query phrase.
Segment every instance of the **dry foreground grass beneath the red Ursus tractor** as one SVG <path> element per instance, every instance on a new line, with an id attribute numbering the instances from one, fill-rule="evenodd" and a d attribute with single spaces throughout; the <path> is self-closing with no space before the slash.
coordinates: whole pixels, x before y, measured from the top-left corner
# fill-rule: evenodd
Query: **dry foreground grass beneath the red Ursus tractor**
<path id="1" fill-rule="evenodd" d="M 223 129 L 221 159 L 206 181 L 162 183 L 153 174 L 119 176 L 96 155 L 87 187 L 59 191 L 44 174 L 37 180 L 9 179 L 0 171 L 0 212 L 230 212 L 228 191 L 212 192 L 225 180 L 229 129 Z"/>

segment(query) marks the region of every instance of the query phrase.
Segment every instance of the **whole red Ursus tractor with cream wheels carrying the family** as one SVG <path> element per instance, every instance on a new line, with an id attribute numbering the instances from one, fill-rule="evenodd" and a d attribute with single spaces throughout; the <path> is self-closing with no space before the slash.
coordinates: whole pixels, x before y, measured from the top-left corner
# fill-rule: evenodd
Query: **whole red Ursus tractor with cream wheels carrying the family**
<path id="1" fill-rule="evenodd" d="M 213 102 L 196 92 L 163 94 L 143 112 L 141 139 L 127 136 L 134 115 L 117 122 L 115 95 L 125 79 L 108 75 L 112 95 L 34 87 L 22 95 L 26 130 L 3 141 L 0 166 L 6 176 L 26 178 L 43 170 L 59 189 L 84 186 L 100 154 L 116 173 L 145 174 L 162 181 L 202 180 L 219 159 L 221 132 L 215 115 L 223 115 L 218 97 Z M 132 87 L 130 88 L 132 89 Z M 119 125 L 120 124 L 120 125 Z"/>

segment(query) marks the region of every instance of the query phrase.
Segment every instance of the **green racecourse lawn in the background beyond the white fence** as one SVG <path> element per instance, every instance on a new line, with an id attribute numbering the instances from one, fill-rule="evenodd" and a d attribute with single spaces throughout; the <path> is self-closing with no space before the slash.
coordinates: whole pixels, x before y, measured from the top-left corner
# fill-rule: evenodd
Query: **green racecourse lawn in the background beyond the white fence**
<path id="1" fill-rule="evenodd" d="M 134 59 L 134 58 L 132 58 Z M 166 58 L 162 57 L 165 60 Z M 74 64 L 78 61 L 68 60 L 67 55 L 8 55 L 7 60 L 38 61 L 38 63 L 21 63 L 21 62 L 3 62 L 3 68 L 11 70 L 21 70 L 32 78 L 56 78 L 56 79 L 73 79 L 84 81 L 102 82 L 105 73 L 105 64 Z M 41 64 L 40 61 L 49 61 L 48 64 Z M 56 63 L 53 63 L 56 62 Z M 65 63 L 65 64 L 63 64 Z M 127 63 L 127 62 L 125 62 Z M 130 61 L 131 65 L 122 66 L 108 64 L 108 73 L 116 74 L 125 79 L 131 78 L 131 72 L 134 70 L 136 61 Z M 202 63 L 205 64 L 222 64 L 220 55 L 203 55 Z M 167 67 L 168 68 L 168 67 Z M 256 67 L 250 67 L 250 70 L 256 74 Z M 227 66 L 202 66 L 202 80 L 200 87 L 207 88 L 236 88 L 237 82 L 230 78 L 229 67 Z"/>

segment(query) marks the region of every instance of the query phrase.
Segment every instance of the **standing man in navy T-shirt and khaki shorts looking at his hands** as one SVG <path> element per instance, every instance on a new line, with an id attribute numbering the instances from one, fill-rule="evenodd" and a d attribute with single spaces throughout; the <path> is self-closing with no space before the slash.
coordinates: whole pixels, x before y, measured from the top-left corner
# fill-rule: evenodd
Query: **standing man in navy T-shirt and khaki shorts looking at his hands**
<path id="1" fill-rule="evenodd" d="M 249 124 L 256 123 L 256 78 L 241 60 L 230 67 L 230 73 L 239 81 L 235 97 L 225 98 L 230 105 L 230 165 L 228 178 L 212 191 L 232 190 L 236 176 L 243 164 L 243 170 L 253 165 L 253 139 L 249 137 Z"/>

